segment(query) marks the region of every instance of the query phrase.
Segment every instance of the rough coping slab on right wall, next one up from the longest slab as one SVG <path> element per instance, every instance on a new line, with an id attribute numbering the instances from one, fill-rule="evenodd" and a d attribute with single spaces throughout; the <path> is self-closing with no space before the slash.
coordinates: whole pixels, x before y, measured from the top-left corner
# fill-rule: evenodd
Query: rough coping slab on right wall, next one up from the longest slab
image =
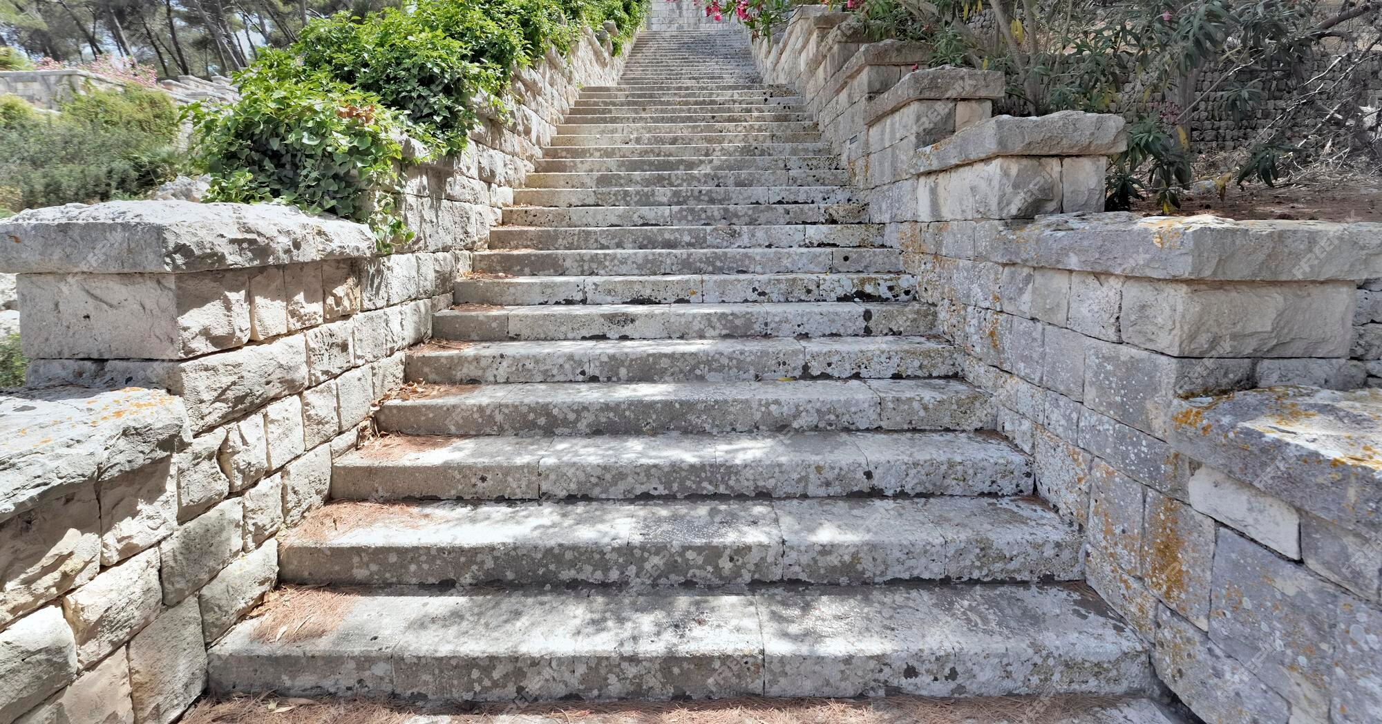
<path id="1" fill-rule="evenodd" d="M 1122 116 L 1079 111 L 994 116 L 919 149 L 911 171 L 933 174 L 998 156 L 1108 156 L 1128 149 L 1125 124 Z"/>

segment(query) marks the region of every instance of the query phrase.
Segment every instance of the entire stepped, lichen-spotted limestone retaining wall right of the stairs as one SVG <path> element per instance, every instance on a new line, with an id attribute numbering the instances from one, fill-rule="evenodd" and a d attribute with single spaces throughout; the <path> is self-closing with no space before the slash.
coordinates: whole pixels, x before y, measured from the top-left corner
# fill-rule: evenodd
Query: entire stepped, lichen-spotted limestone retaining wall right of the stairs
<path id="1" fill-rule="evenodd" d="M 1122 119 L 988 117 L 1001 77 L 842 21 L 799 8 L 760 68 L 822 113 L 1161 678 L 1206 721 L 1375 721 L 1382 397 L 1281 385 L 1364 384 L 1382 225 L 1100 213 Z"/>

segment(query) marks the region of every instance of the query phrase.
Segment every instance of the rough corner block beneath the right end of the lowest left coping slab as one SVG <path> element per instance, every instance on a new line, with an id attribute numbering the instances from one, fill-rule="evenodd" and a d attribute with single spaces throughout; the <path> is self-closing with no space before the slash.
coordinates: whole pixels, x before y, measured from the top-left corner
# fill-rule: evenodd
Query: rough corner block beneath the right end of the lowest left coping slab
<path id="1" fill-rule="evenodd" d="M 97 486 L 101 502 L 101 565 L 140 553 L 177 528 L 173 459 L 116 475 Z"/>

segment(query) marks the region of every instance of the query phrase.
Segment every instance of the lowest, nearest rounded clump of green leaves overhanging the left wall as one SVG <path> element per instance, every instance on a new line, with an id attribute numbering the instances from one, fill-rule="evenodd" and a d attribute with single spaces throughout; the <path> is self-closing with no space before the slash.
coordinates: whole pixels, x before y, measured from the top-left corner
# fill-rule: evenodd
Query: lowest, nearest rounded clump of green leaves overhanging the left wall
<path id="1" fill-rule="evenodd" d="M 211 174 L 207 200 L 279 199 L 368 222 L 381 246 L 402 234 L 391 193 L 402 160 L 395 113 L 343 83 L 303 77 L 286 55 L 236 80 L 231 106 L 189 108 L 192 152 Z"/>

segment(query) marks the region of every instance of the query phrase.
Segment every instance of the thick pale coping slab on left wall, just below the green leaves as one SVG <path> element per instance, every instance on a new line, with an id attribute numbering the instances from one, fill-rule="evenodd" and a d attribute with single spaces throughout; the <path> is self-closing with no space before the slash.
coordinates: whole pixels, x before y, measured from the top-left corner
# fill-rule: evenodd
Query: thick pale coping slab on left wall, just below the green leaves
<path id="1" fill-rule="evenodd" d="M 0 271 L 19 274 L 196 272 L 373 253 L 363 224 L 279 204 L 69 203 L 0 221 Z"/>

